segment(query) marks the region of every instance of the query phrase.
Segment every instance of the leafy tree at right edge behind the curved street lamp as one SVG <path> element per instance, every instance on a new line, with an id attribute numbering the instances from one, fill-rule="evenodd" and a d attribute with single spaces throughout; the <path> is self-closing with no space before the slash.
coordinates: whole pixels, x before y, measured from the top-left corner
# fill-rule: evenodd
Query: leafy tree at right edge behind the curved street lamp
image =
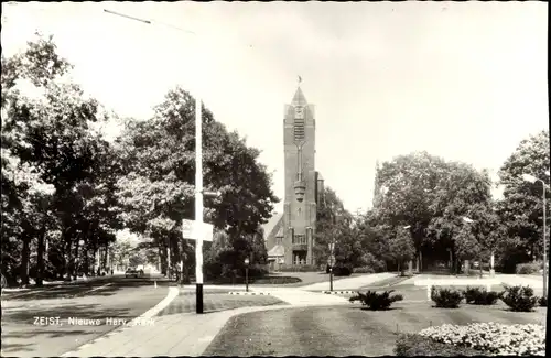
<path id="1" fill-rule="evenodd" d="M 499 246 L 499 261 L 506 271 L 515 270 L 517 263 L 534 260 L 542 252 L 542 185 L 525 182 L 522 174 L 549 185 L 549 131 L 544 130 L 522 140 L 499 171 L 504 198 L 497 204 L 497 213 L 506 231 Z M 549 189 L 545 196 L 549 205 Z"/>

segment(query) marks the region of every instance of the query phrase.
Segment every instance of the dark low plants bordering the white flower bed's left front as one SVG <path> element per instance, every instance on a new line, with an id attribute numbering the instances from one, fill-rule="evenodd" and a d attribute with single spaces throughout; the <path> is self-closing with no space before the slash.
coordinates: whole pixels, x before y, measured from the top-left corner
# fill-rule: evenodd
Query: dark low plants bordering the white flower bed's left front
<path id="1" fill-rule="evenodd" d="M 396 341 L 395 355 L 398 357 L 436 356 L 479 356 L 480 351 L 469 347 L 443 344 L 421 335 L 400 335 Z"/>

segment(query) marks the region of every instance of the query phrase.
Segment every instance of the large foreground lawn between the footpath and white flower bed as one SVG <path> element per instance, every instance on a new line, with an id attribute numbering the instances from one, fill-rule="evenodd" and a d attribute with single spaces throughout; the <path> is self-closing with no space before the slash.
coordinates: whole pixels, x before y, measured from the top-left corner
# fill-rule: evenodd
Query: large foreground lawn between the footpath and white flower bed
<path id="1" fill-rule="evenodd" d="M 366 311 L 359 304 L 266 311 L 233 317 L 204 356 L 385 356 L 393 355 L 400 333 L 430 325 L 476 322 L 527 324 L 545 322 L 547 308 L 515 313 L 504 305 L 456 310 L 433 308 L 432 302 L 399 302 L 390 311 Z"/>

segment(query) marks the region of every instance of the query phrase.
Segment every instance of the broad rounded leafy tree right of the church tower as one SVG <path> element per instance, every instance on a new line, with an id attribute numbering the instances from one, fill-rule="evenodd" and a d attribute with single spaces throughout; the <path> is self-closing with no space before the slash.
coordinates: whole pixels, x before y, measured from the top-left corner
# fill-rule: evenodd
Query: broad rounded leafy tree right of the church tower
<path id="1" fill-rule="evenodd" d="M 476 254 L 467 248 L 471 234 L 462 216 L 475 205 L 489 206 L 491 181 L 487 172 L 473 166 L 414 152 L 383 163 L 377 173 L 377 186 L 385 188 L 370 214 L 370 226 L 380 232 L 408 228 L 415 256 L 446 260 L 452 256 Z M 418 261 L 419 262 L 419 261 Z"/>

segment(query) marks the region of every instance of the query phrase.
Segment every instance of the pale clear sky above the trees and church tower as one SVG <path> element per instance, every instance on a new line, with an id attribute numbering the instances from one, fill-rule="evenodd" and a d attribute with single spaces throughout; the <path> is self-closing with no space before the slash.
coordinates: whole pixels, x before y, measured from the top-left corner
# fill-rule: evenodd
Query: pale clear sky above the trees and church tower
<path id="1" fill-rule="evenodd" d="M 549 129 L 541 1 L 2 2 L 4 55 L 36 30 L 121 117 L 150 118 L 175 85 L 199 94 L 262 151 L 279 197 L 283 110 L 301 76 L 316 169 L 352 211 L 371 206 L 377 160 L 425 150 L 496 173 Z"/>

